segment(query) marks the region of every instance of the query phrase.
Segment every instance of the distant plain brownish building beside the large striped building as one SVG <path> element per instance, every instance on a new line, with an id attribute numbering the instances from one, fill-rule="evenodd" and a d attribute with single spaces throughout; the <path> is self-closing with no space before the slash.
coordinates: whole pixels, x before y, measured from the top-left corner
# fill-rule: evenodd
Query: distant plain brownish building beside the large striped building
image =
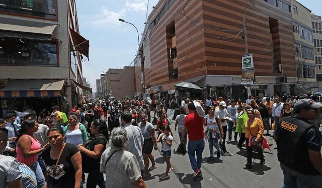
<path id="1" fill-rule="evenodd" d="M 133 97 L 135 93 L 134 67 L 125 66 L 123 68 L 110 68 L 104 78 L 103 93 L 105 99 L 114 97 L 117 100 L 126 96 Z"/>

